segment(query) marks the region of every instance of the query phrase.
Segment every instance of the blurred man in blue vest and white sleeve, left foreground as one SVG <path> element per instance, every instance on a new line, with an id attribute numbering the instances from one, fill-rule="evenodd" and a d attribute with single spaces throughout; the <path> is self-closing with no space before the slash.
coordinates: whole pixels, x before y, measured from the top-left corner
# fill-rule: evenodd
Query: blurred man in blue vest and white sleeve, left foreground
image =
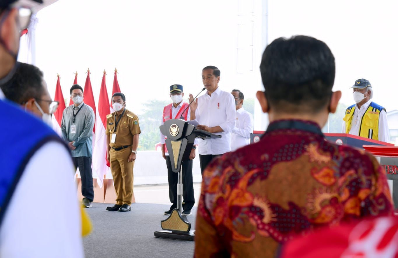
<path id="1" fill-rule="evenodd" d="M 34 2 L 42 3 L 0 2 L 0 85 L 17 70 L 19 33 Z M 49 126 L 4 100 L 2 91 L 0 99 L 9 128 L 0 140 L 0 257 L 83 257 L 68 147 Z"/>

